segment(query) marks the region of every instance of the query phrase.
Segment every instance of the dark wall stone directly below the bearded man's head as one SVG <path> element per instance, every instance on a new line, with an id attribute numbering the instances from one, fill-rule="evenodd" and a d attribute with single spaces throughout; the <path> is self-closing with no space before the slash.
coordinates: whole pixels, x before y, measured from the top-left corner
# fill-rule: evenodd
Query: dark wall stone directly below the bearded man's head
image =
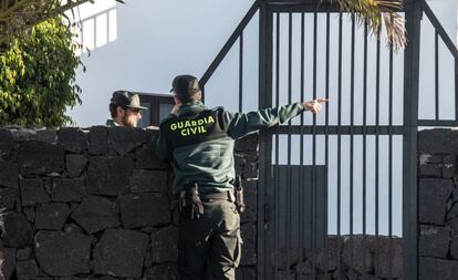
<path id="1" fill-rule="evenodd" d="M 129 128 L 124 126 L 108 128 L 108 143 L 119 155 L 126 155 L 136 147 L 146 143 L 147 135 L 140 128 Z"/>

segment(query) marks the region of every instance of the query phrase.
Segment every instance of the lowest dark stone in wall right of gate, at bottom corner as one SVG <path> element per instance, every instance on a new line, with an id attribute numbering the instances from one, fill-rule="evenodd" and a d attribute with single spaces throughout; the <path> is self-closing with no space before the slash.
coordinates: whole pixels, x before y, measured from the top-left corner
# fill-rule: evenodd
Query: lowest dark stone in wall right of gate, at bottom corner
<path id="1" fill-rule="evenodd" d="M 419 280 L 456 280 L 458 276 L 458 261 L 420 257 L 418 269 Z"/>

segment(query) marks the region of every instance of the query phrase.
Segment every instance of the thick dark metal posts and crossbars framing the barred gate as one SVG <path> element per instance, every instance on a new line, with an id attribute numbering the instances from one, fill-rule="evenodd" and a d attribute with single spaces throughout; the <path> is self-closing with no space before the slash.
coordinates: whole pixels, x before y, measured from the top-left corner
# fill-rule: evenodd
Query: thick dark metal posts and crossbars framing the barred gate
<path id="1" fill-rule="evenodd" d="M 243 29 L 251 18 L 259 11 L 259 104 L 260 108 L 273 106 L 272 94 L 272 58 L 273 58 L 273 14 L 274 12 L 335 12 L 335 6 L 329 6 L 321 0 L 256 0 L 248 13 L 236 28 L 229 40 L 218 53 L 214 62 L 200 79 L 202 93 L 205 85 L 212 73 L 222 62 L 232 45 L 240 42 L 240 69 L 239 69 L 239 96 L 242 96 L 242 46 Z M 417 134 L 419 126 L 458 126 L 458 51 L 452 41 L 440 25 L 437 18 L 425 0 L 407 0 L 404 2 L 406 18 L 406 31 L 408 44 L 404 50 L 404 116 L 402 126 L 288 126 L 279 127 L 277 131 L 263 131 L 260 133 L 260 179 L 258 189 L 258 279 L 269 279 L 267 271 L 266 248 L 271 248 L 264 232 L 267 220 L 267 190 L 264 185 L 269 184 L 272 168 L 272 136 L 280 134 L 346 134 L 346 135 L 403 135 L 403 260 L 404 279 L 418 279 L 418 187 L 417 187 Z M 455 120 L 439 120 L 438 115 L 438 76 L 436 74 L 436 118 L 418 118 L 418 95 L 419 95 L 419 58 L 420 58 L 420 21 L 425 13 L 436 30 L 436 70 L 438 69 L 438 39 L 440 38 L 449 52 L 455 58 Z M 436 71 L 437 72 L 437 71 Z M 241 98 L 240 98 L 241 100 Z M 239 102 L 241 111 L 242 104 Z M 346 132 L 346 133 L 342 133 Z M 347 132 L 351 132 L 348 134 Z"/>

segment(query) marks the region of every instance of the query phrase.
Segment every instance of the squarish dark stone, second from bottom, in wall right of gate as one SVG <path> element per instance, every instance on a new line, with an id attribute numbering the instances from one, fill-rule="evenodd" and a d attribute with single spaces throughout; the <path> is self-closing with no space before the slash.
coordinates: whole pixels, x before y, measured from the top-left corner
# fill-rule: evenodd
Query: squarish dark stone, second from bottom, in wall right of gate
<path id="1" fill-rule="evenodd" d="M 435 226 L 420 226 L 419 256 L 446 258 L 449 243 L 450 229 Z"/>

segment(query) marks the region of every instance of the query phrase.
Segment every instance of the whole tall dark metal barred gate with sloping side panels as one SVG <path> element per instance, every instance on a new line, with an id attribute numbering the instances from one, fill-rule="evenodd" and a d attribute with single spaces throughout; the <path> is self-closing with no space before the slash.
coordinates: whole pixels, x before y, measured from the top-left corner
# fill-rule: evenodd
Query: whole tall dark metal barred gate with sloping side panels
<path id="1" fill-rule="evenodd" d="M 243 32 L 258 14 L 258 107 L 330 98 L 322 114 L 261 133 L 258 279 L 417 279 L 417 132 L 458 124 L 458 52 L 425 1 L 402 12 L 408 46 L 394 53 L 322 1 L 256 1 L 202 75 L 205 86 L 239 42 L 242 111 Z M 434 53 L 429 95 L 420 45 Z M 454 90 L 439 75 L 444 55 Z"/>

